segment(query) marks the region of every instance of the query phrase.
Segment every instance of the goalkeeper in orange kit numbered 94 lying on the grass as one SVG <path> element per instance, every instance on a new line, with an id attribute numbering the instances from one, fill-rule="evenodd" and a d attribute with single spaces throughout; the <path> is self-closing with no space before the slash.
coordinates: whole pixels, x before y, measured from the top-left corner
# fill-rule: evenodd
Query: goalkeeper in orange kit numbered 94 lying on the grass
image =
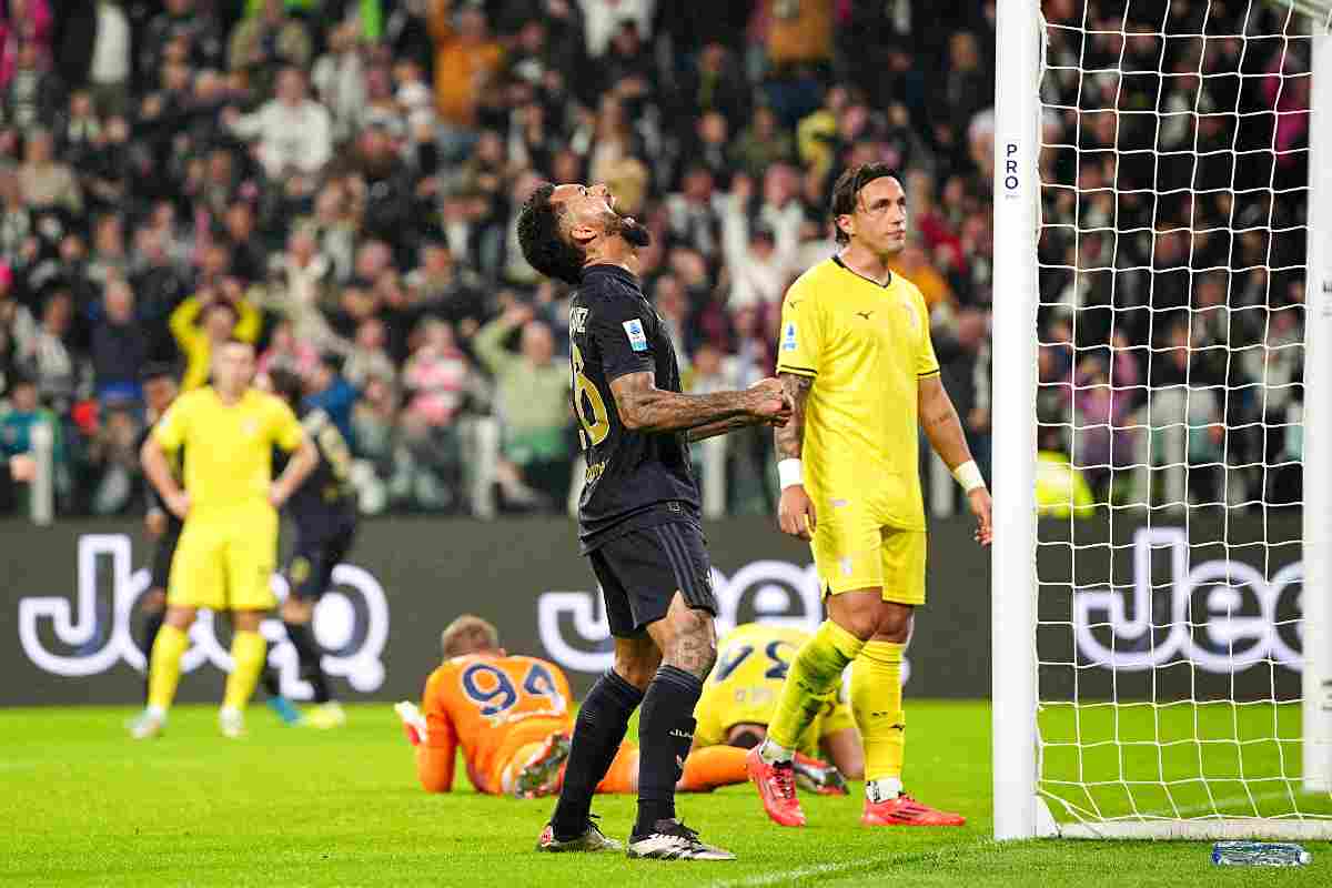
<path id="1" fill-rule="evenodd" d="M 569 758 L 574 712 L 569 680 L 558 666 L 534 656 L 510 655 L 486 620 L 464 615 L 442 635 L 444 663 L 430 674 L 424 714 L 398 704 L 408 736 L 417 744 L 417 775 L 426 792 L 453 788 L 457 750 L 468 779 L 490 795 L 523 799 L 558 792 Z M 685 760 L 678 788 L 711 792 L 743 783 L 745 750 L 695 748 Z M 638 747 L 621 743 L 597 792 L 638 791 Z M 817 792 L 844 792 L 835 768 L 801 756 L 802 784 Z"/>

